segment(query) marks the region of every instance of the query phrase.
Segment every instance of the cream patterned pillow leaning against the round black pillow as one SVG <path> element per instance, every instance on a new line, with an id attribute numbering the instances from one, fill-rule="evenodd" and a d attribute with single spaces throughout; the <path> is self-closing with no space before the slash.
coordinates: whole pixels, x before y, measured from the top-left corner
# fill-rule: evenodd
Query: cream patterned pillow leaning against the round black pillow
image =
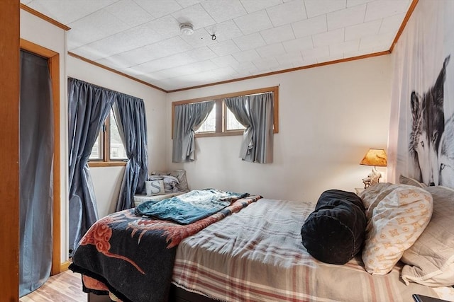
<path id="1" fill-rule="evenodd" d="M 412 185 L 378 183 L 360 197 L 367 228 L 362 261 L 370 274 L 387 274 L 428 225 L 432 195 Z"/>

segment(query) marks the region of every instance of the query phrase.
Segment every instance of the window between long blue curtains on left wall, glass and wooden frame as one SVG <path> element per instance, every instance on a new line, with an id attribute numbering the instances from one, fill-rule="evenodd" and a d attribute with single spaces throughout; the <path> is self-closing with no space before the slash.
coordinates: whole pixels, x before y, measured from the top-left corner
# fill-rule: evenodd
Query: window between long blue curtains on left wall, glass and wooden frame
<path id="1" fill-rule="evenodd" d="M 126 156 L 126 150 L 118 132 L 114 111 L 111 110 L 94 142 L 89 165 L 92 167 L 125 165 L 126 160 L 128 160 L 128 156 Z"/>

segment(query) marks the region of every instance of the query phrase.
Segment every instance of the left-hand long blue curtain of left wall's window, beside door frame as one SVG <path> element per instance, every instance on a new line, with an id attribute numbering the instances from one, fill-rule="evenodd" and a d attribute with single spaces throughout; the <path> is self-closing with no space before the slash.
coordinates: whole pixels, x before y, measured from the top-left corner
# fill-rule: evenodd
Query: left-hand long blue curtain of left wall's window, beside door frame
<path id="1" fill-rule="evenodd" d="M 115 100 L 115 92 L 77 79 L 68 79 L 69 120 L 69 248 L 98 219 L 88 159 L 99 130 Z"/>

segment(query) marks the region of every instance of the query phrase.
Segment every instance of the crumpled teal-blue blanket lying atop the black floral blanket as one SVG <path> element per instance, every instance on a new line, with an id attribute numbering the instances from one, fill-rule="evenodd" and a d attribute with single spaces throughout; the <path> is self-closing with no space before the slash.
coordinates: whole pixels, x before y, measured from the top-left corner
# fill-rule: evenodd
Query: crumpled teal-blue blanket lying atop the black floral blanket
<path id="1" fill-rule="evenodd" d="M 236 199 L 248 196 L 248 193 L 214 189 L 194 190 L 160 202 L 143 202 L 135 208 L 135 215 L 189 224 L 221 211 Z"/>

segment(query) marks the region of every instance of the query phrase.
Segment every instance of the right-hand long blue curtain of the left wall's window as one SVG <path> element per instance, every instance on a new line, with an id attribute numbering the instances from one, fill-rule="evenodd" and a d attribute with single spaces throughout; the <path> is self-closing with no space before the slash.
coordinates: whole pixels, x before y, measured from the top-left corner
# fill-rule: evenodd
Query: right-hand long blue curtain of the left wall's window
<path id="1" fill-rule="evenodd" d="M 113 109 L 118 132 L 128 156 L 116 204 L 116 211 L 121 211 L 134 207 L 135 192 L 145 191 L 148 173 L 147 120 L 145 105 L 140 98 L 118 93 Z"/>

